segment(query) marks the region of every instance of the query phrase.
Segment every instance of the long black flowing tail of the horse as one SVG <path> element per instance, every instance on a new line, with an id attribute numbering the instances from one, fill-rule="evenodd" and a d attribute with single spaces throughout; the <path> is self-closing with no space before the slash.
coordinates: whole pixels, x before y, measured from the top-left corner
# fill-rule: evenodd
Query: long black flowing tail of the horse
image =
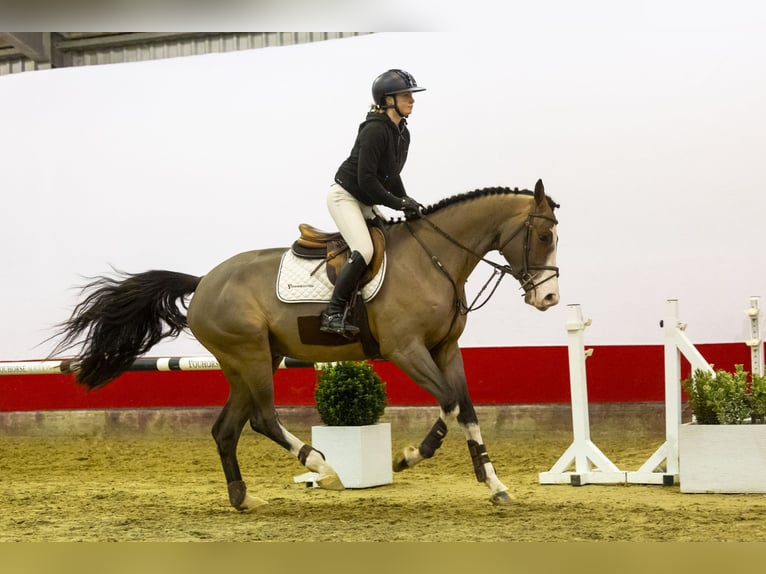
<path id="1" fill-rule="evenodd" d="M 161 339 L 177 337 L 187 327 L 185 299 L 199 282 L 173 271 L 97 277 L 82 288 L 87 296 L 71 317 L 58 325 L 52 338 L 63 340 L 51 356 L 81 345 L 73 360 L 77 382 L 102 387 Z"/>

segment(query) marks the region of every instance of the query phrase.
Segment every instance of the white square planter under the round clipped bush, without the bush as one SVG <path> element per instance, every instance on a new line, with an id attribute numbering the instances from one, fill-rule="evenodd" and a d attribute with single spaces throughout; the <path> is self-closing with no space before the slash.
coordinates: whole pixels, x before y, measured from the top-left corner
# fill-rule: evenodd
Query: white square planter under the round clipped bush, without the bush
<path id="1" fill-rule="evenodd" d="M 391 484 L 391 423 L 311 427 L 311 446 L 321 451 L 346 488 Z"/>

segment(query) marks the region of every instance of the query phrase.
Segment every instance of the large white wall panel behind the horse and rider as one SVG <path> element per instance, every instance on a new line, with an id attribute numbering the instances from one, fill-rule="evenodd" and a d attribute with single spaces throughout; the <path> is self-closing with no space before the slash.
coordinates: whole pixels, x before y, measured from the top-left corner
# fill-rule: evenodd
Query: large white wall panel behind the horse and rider
<path id="1" fill-rule="evenodd" d="M 565 344 L 570 303 L 593 318 L 590 344 L 660 343 L 668 298 L 695 342 L 743 340 L 749 297 L 766 298 L 754 10 L 613 11 L 2 77 L 0 360 L 49 351 L 39 343 L 83 275 L 201 275 L 288 245 L 299 222 L 331 228 L 325 190 L 389 67 L 428 88 L 410 121 L 411 195 L 542 178 L 562 206 L 562 305 L 539 313 L 508 280 L 463 346 Z M 478 268 L 472 293 L 490 272 Z M 155 351 L 204 352 L 189 338 Z"/>

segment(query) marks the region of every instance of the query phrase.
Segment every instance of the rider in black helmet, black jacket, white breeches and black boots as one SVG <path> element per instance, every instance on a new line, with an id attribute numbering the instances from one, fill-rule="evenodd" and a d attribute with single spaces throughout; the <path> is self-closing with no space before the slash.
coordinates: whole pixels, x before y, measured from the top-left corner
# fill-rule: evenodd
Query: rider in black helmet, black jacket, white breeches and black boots
<path id="1" fill-rule="evenodd" d="M 327 194 L 327 209 L 351 251 L 335 281 L 332 298 L 322 313 L 320 330 L 351 338 L 359 328 L 346 320 L 346 306 L 373 254 L 367 220 L 377 215 L 375 205 L 417 217 L 417 201 L 407 195 L 400 173 L 407 161 L 410 132 L 407 117 L 422 92 L 404 70 L 388 70 L 372 83 L 373 105 L 351 149 L 338 168 Z"/>

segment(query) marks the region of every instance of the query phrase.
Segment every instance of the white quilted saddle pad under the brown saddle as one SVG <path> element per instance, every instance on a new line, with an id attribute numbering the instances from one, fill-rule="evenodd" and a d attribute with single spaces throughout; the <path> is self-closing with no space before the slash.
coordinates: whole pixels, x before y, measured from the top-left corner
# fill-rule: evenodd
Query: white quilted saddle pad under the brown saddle
<path id="1" fill-rule="evenodd" d="M 321 267 L 317 269 L 321 263 Z M 332 296 L 332 283 L 327 278 L 325 263 L 320 259 L 297 257 L 285 251 L 277 274 L 277 298 L 283 303 L 327 303 Z M 316 270 L 316 273 L 312 273 Z M 378 294 L 386 274 L 386 256 L 380 271 L 362 288 L 362 299 L 369 301 Z"/>

